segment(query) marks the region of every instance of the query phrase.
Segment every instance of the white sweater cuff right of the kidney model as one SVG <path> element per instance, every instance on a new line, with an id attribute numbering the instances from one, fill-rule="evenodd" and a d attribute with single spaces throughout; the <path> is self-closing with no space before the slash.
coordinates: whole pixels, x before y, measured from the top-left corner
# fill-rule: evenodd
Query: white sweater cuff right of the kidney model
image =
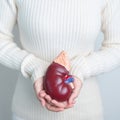
<path id="1" fill-rule="evenodd" d="M 89 69 L 87 66 L 87 62 L 84 56 L 78 56 L 71 60 L 71 70 L 70 73 L 76 77 L 78 77 L 82 82 L 84 82 L 85 74 Z"/>

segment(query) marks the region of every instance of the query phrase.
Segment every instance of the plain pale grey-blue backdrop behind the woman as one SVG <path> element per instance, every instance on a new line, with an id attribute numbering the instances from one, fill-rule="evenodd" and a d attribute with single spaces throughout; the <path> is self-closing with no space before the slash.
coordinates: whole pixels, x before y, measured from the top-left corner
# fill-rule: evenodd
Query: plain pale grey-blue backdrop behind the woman
<path id="1" fill-rule="evenodd" d="M 19 31 L 15 26 L 15 42 L 20 46 Z M 101 46 L 103 34 L 96 40 L 96 50 Z M 18 71 L 0 65 L 0 120 L 12 120 L 11 102 Z M 98 76 L 104 105 L 105 120 L 120 120 L 120 67 Z"/>

